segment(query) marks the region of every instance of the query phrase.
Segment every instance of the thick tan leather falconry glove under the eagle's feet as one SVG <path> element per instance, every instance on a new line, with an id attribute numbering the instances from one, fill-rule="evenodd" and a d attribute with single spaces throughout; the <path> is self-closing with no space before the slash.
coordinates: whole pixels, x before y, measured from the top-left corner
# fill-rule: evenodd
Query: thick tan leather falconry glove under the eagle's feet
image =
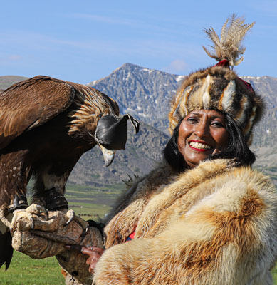
<path id="1" fill-rule="evenodd" d="M 47 211 L 38 204 L 15 211 L 11 221 L 12 246 L 33 259 L 56 256 L 68 274 L 80 284 L 90 285 L 93 276 L 85 263 L 87 257 L 78 249 L 103 248 L 102 235 L 80 217 L 73 217 L 68 224 L 72 214 L 73 211 Z M 66 249 L 65 244 L 76 245 L 76 250 Z"/>

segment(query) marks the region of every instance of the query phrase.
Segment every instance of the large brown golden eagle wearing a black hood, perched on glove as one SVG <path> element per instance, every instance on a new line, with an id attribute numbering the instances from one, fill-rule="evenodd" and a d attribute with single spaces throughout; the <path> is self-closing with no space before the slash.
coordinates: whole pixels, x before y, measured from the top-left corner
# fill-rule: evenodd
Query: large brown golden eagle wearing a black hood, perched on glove
<path id="1" fill-rule="evenodd" d="M 105 166 L 125 149 L 127 119 L 115 100 L 77 83 L 36 76 L 0 93 L 0 219 L 28 206 L 26 187 L 34 178 L 32 202 L 64 209 L 65 185 L 84 152 L 98 144 Z M 11 262 L 11 234 L 0 225 L 0 267 Z"/>

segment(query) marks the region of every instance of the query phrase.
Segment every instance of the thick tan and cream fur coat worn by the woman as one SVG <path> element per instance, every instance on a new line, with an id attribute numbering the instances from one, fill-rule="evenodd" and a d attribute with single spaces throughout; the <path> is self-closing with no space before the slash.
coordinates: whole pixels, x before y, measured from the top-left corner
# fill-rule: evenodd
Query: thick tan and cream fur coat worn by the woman
<path id="1" fill-rule="evenodd" d="M 176 175 L 164 164 L 135 182 L 105 227 L 96 284 L 273 284 L 276 189 L 231 165 L 206 161 Z"/>

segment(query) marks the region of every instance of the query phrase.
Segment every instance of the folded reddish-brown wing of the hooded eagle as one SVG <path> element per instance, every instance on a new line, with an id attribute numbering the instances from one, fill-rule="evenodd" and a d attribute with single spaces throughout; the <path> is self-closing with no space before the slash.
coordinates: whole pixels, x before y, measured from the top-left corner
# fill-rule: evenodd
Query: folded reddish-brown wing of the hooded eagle
<path id="1" fill-rule="evenodd" d="M 47 76 L 36 76 L 4 90 L 0 93 L 0 149 L 66 110 L 74 96 L 70 84 Z"/>

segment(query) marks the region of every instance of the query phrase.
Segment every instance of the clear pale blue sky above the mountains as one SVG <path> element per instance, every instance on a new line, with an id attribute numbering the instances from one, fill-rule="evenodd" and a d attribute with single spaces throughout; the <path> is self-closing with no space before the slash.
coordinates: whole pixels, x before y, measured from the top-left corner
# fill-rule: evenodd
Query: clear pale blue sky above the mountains
<path id="1" fill-rule="evenodd" d="M 256 21 L 239 76 L 277 77 L 277 1 L 2 1 L 0 76 L 88 83 L 124 63 L 175 74 L 213 65 L 203 28 L 231 14 Z"/>

